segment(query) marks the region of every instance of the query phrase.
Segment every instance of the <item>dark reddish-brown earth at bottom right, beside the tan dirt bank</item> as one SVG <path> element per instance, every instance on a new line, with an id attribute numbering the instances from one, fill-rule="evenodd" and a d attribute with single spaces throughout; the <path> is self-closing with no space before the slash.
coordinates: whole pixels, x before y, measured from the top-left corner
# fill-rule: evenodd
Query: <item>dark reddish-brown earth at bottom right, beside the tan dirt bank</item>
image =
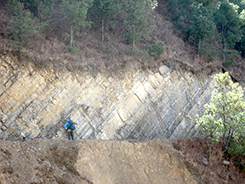
<path id="1" fill-rule="evenodd" d="M 244 184 L 245 172 L 234 163 L 234 158 L 225 158 L 222 143 L 193 138 L 173 142 L 183 155 L 189 170 L 202 184 Z M 244 160 L 244 159 L 243 159 Z M 228 165 L 224 164 L 228 161 Z"/>

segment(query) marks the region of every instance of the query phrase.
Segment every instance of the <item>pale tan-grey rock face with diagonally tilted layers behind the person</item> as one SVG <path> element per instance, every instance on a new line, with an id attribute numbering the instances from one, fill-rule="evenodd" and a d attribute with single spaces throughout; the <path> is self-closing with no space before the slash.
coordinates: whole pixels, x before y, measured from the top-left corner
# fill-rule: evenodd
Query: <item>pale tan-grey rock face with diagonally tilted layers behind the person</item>
<path id="1" fill-rule="evenodd" d="M 76 139 L 189 137 L 212 84 L 210 77 L 165 65 L 92 75 L 1 56 L 0 138 L 65 138 L 68 116 Z"/>

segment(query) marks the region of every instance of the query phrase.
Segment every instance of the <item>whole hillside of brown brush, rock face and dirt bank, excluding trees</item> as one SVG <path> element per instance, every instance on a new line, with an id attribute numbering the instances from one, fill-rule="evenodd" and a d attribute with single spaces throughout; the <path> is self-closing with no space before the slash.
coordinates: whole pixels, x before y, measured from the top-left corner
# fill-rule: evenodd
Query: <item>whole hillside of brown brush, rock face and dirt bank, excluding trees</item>
<path id="1" fill-rule="evenodd" d="M 122 41 L 122 25 L 103 46 L 100 29 L 77 31 L 74 53 L 57 28 L 16 49 L 11 16 L 0 5 L 0 184 L 244 183 L 232 158 L 224 164 L 219 144 L 208 160 L 208 143 L 193 138 L 211 76 L 229 71 L 244 87 L 244 58 L 234 55 L 224 67 L 221 56 L 198 56 L 163 11 L 166 2 L 134 52 Z M 159 42 L 160 56 L 146 53 Z M 76 123 L 75 141 L 66 140 L 67 117 Z"/>

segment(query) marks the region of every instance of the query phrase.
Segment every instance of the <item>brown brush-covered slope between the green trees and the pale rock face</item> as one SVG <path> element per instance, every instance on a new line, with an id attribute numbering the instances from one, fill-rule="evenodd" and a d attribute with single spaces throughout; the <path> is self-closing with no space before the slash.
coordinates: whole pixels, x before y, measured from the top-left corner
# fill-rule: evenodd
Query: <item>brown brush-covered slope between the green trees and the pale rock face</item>
<path id="1" fill-rule="evenodd" d="M 229 71 L 236 81 L 244 83 L 244 58 L 239 55 L 232 56 L 234 61 L 231 67 L 222 65 L 222 57 L 210 61 L 205 55 L 198 56 L 196 46 L 184 41 L 184 35 L 176 28 L 171 21 L 170 10 L 167 9 L 168 1 L 158 2 L 158 7 L 153 12 L 155 28 L 147 35 L 142 42 L 139 42 L 136 51 L 132 51 L 132 46 L 122 40 L 122 25 L 107 32 L 105 43 L 101 45 L 100 29 L 84 29 L 77 31 L 74 35 L 76 53 L 67 50 L 68 38 L 59 36 L 55 32 L 45 34 L 34 34 L 29 37 L 21 52 L 13 45 L 18 44 L 15 39 L 8 36 L 7 26 L 11 15 L 6 6 L 0 6 L 0 50 L 2 53 L 13 53 L 22 62 L 28 60 L 43 67 L 65 66 L 74 71 L 109 71 L 117 73 L 117 70 L 125 65 L 137 61 L 130 67 L 142 67 L 155 69 L 157 66 L 171 63 L 181 63 L 183 67 L 192 72 L 205 71 L 211 75 L 216 72 Z M 3 4 L 4 5 L 4 4 Z M 63 31 L 63 30 L 61 30 Z M 163 44 L 163 53 L 158 57 L 151 57 L 146 52 L 146 46 L 153 43 Z M 208 44 L 208 43 L 207 43 Z M 213 44 L 213 43 L 212 43 Z M 220 45 L 212 45 L 220 48 Z"/>

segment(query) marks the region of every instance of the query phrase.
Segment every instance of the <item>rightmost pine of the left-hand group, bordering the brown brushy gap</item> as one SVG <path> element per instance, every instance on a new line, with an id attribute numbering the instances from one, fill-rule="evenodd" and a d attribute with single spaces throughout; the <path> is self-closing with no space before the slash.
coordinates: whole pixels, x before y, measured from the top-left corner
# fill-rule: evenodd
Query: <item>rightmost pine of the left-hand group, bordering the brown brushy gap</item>
<path id="1" fill-rule="evenodd" d="M 128 43 L 132 43 L 134 50 L 135 44 L 146 37 L 154 25 L 152 4 L 148 0 L 128 0 L 124 4 L 124 10 L 125 36 Z"/>

